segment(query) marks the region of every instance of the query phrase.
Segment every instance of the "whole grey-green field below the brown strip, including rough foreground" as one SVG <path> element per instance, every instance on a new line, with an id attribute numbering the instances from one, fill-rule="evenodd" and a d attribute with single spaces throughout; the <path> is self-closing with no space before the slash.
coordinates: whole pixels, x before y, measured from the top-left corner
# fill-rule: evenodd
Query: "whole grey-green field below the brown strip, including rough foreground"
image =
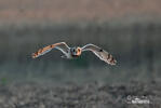
<path id="1" fill-rule="evenodd" d="M 1 27 L 2 108 L 161 107 L 160 23 L 121 27 L 81 24 Z M 118 64 L 106 65 L 90 52 L 77 59 L 62 59 L 62 53 L 54 50 L 31 59 L 37 49 L 63 40 L 69 45 L 100 45 L 112 53 Z M 132 104 L 136 97 L 150 103 Z"/>

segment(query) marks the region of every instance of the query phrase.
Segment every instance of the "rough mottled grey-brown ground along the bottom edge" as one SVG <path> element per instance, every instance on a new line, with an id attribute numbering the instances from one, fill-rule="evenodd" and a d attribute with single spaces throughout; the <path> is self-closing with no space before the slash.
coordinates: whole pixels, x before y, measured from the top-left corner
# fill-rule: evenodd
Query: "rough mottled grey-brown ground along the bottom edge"
<path id="1" fill-rule="evenodd" d="M 2 108 L 160 108 L 161 86 L 157 82 L 64 85 L 16 83 L 0 85 Z M 134 104 L 135 98 L 149 100 Z"/>

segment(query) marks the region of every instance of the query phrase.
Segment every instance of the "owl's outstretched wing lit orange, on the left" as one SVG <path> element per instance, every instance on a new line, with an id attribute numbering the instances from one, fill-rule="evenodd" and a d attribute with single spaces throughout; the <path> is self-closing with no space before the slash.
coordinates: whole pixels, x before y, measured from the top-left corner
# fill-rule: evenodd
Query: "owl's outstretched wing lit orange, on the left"
<path id="1" fill-rule="evenodd" d="M 66 55 L 69 50 L 69 46 L 65 42 L 59 42 L 59 43 L 51 44 L 51 45 L 48 45 L 48 46 L 44 46 L 44 48 L 38 50 L 36 53 L 32 53 L 32 58 L 39 57 L 39 56 L 50 52 L 54 48 L 61 50 Z"/>

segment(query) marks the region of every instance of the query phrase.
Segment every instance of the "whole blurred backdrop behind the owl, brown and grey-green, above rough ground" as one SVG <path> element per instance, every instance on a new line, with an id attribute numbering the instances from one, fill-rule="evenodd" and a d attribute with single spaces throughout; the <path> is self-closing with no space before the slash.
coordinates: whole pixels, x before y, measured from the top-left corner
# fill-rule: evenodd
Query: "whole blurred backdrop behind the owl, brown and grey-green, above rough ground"
<path id="1" fill-rule="evenodd" d="M 160 0 L 0 0 L 0 83 L 103 83 L 160 81 Z M 91 52 L 63 59 L 57 50 L 31 53 L 65 41 L 96 44 L 118 64 Z"/>

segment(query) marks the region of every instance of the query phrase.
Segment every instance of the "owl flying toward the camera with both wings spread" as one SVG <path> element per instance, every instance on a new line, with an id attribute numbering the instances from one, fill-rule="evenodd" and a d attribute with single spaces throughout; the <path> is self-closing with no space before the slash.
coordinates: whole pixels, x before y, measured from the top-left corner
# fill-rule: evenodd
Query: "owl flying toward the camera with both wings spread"
<path id="1" fill-rule="evenodd" d="M 48 45 L 48 46 L 44 46 L 44 48 L 38 50 L 36 53 L 32 53 L 32 58 L 39 57 L 39 56 L 50 52 L 54 48 L 64 53 L 64 55 L 62 56 L 64 58 L 70 59 L 70 58 L 79 57 L 82 52 L 91 51 L 97 57 L 99 57 L 102 60 L 104 60 L 107 64 L 116 65 L 116 63 L 117 63 L 117 60 L 112 57 L 111 54 L 109 54 L 105 50 L 103 50 L 94 44 L 91 44 L 91 43 L 86 44 L 82 48 L 80 48 L 80 46 L 69 48 L 65 42 L 51 44 L 51 45 Z"/>

